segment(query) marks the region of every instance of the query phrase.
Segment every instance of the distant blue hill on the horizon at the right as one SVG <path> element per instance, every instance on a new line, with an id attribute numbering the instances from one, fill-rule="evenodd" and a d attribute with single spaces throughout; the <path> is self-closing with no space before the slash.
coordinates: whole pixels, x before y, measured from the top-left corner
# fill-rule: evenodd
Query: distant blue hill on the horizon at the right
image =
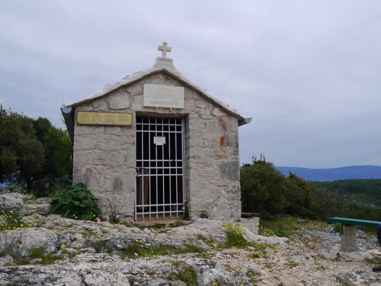
<path id="1" fill-rule="evenodd" d="M 345 179 L 381 179 L 381 166 L 347 166 L 333 169 L 309 169 L 299 167 L 275 167 L 286 177 L 292 172 L 310 181 L 337 181 Z"/>

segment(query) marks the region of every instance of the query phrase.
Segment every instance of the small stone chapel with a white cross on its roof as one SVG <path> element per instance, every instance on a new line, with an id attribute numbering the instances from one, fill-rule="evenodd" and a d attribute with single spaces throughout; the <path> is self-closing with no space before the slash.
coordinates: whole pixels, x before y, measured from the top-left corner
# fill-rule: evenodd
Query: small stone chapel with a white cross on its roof
<path id="1" fill-rule="evenodd" d="M 73 184 L 103 215 L 160 223 L 241 217 L 238 127 L 251 118 L 190 82 L 167 57 L 61 108 L 74 144 Z"/>

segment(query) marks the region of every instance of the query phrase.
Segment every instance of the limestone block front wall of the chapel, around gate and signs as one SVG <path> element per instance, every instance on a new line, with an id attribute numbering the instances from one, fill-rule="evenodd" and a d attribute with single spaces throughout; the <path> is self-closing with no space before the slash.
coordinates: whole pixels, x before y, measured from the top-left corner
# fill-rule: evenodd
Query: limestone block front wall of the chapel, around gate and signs
<path id="1" fill-rule="evenodd" d="M 184 87 L 184 109 L 143 106 L 143 85 Z M 132 113 L 132 126 L 75 125 L 73 183 L 84 182 L 104 214 L 134 217 L 136 116 L 185 118 L 186 204 L 191 217 L 238 220 L 238 120 L 165 72 L 122 86 L 76 111 Z"/>

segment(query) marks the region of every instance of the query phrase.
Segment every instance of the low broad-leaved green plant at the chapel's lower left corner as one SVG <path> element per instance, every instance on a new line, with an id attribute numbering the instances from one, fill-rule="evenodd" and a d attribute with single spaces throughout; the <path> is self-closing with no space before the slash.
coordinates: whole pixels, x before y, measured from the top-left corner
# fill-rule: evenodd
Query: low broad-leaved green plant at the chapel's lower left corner
<path id="1" fill-rule="evenodd" d="M 51 202 L 51 214 L 60 214 L 66 218 L 91 220 L 102 216 L 96 199 L 84 183 L 57 190 Z"/>

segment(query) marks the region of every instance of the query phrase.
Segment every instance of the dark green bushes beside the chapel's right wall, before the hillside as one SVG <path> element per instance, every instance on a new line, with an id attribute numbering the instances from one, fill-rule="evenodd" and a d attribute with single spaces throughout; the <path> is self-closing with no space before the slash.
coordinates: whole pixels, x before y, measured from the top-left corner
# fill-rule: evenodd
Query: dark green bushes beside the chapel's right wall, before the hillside
<path id="1" fill-rule="evenodd" d="M 346 203 L 327 186 L 316 188 L 314 183 L 290 173 L 289 177 L 275 169 L 272 163 L 252 157 L 252 164 L 240 170 L 242 211 L 259 212 L 261 219 L 287 214 L 303 218 L 344 216 Z"/>

